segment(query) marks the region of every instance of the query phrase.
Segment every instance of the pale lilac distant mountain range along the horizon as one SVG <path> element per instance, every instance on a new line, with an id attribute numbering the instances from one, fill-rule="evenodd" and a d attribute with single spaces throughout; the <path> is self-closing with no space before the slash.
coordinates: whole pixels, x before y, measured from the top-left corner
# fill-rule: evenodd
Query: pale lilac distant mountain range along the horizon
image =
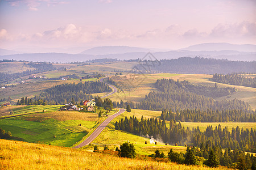
<path id="1" fill-rule="evenodd" d="M 189 46 L 180 50 L 159 52 L 157 49 L 137 48 L 130 46 L 99 46 L 84 50 L 79 54 L 68 53 L 32 53 L 15 54 L 14 51 L 0 49 L 0 59 L 16 59 L 46 62 L 82 62 L 96 58 L 143 59 L 148 52 L 155 59 L 173 59 L 179 57 L 204 57 L 229 59 L 232 61 L 255 61 L 256 45 L 234 45 L 228 43 L 206 43 Z"/>

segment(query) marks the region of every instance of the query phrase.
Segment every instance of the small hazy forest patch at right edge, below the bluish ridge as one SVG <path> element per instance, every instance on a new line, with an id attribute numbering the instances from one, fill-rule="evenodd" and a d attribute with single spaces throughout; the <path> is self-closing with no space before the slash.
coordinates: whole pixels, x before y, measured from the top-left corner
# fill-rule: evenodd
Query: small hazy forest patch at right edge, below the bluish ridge
<path id="1" fill-rule="evenodd" d="M 212 78 L 209 78 L 210 81 L 232 84 L 237 86 L 246 86 L 256 88 L 256 78 L 250 78 L 247 76 L 239 74 L 213 74 Z"/>

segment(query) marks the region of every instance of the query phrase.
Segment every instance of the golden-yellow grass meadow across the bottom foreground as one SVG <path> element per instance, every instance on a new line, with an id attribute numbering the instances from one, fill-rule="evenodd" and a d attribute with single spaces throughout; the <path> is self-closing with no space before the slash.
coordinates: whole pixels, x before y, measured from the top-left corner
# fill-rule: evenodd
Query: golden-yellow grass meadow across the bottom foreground
<path id="1" fill-rule="evenodd" d="M 67 147 L 0 139 L 0 169 L 228 169 L 119 158 Z"/>

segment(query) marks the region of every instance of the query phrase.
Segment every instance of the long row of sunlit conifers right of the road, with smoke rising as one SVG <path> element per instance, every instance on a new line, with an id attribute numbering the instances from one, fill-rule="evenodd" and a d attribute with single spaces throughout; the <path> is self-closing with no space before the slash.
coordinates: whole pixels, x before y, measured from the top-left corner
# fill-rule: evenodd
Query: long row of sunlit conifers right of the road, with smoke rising
<path id="1" fill-rule="evenodd" d="M 205 131 L 200 131 L 199 127 L 185 129 L 180 122 L 170 121 L 170 127 L 167 128 L 166 121 L 157 118 L 125 117 L 115 122 L 115 129 L 127 131 L 136 135 L 150 135 L 155 138 L 161 138 L 163 142 L 172 145 L 200 147 L 201 145 L 212 147 L 221 146 L 222 148 L 232 148 L 242 151 L 256 151 L 256 130 L 233 128 L 230 133 L 228 127 L 222 129 L 221 125 L 213 128 L 208 126 Z"/>

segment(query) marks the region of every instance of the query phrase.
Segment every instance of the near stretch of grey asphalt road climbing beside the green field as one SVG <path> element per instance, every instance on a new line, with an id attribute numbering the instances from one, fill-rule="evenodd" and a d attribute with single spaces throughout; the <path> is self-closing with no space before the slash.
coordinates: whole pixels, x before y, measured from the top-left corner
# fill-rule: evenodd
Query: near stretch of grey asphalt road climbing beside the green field
<path id="1" fill-rule="evenodd" d="M 89 145 L 90 142 L 92 142 L 95 138 L 98 137 L 98 135 L 100 135 L 101 131 L 104 130 L 104 128 L 106 128 L 106 126 L 117 116 L 119 116 L 119 114 L 122 114 L 123 112 L 125 112 L 125 109 L 119 109 L 119 112 L 113 114 L 112 116 L 109 116 L 105 121 L 103 121 L 100 126 L 98 126 L 98 128 L 96 128 L 92 134 L 89 135 L 88 138 L 85 139 L 84 142 L 80 143 L 79 145 L 73 147 L 73 148 L 80 148 L 83 147 L 85 145 Z"/>

